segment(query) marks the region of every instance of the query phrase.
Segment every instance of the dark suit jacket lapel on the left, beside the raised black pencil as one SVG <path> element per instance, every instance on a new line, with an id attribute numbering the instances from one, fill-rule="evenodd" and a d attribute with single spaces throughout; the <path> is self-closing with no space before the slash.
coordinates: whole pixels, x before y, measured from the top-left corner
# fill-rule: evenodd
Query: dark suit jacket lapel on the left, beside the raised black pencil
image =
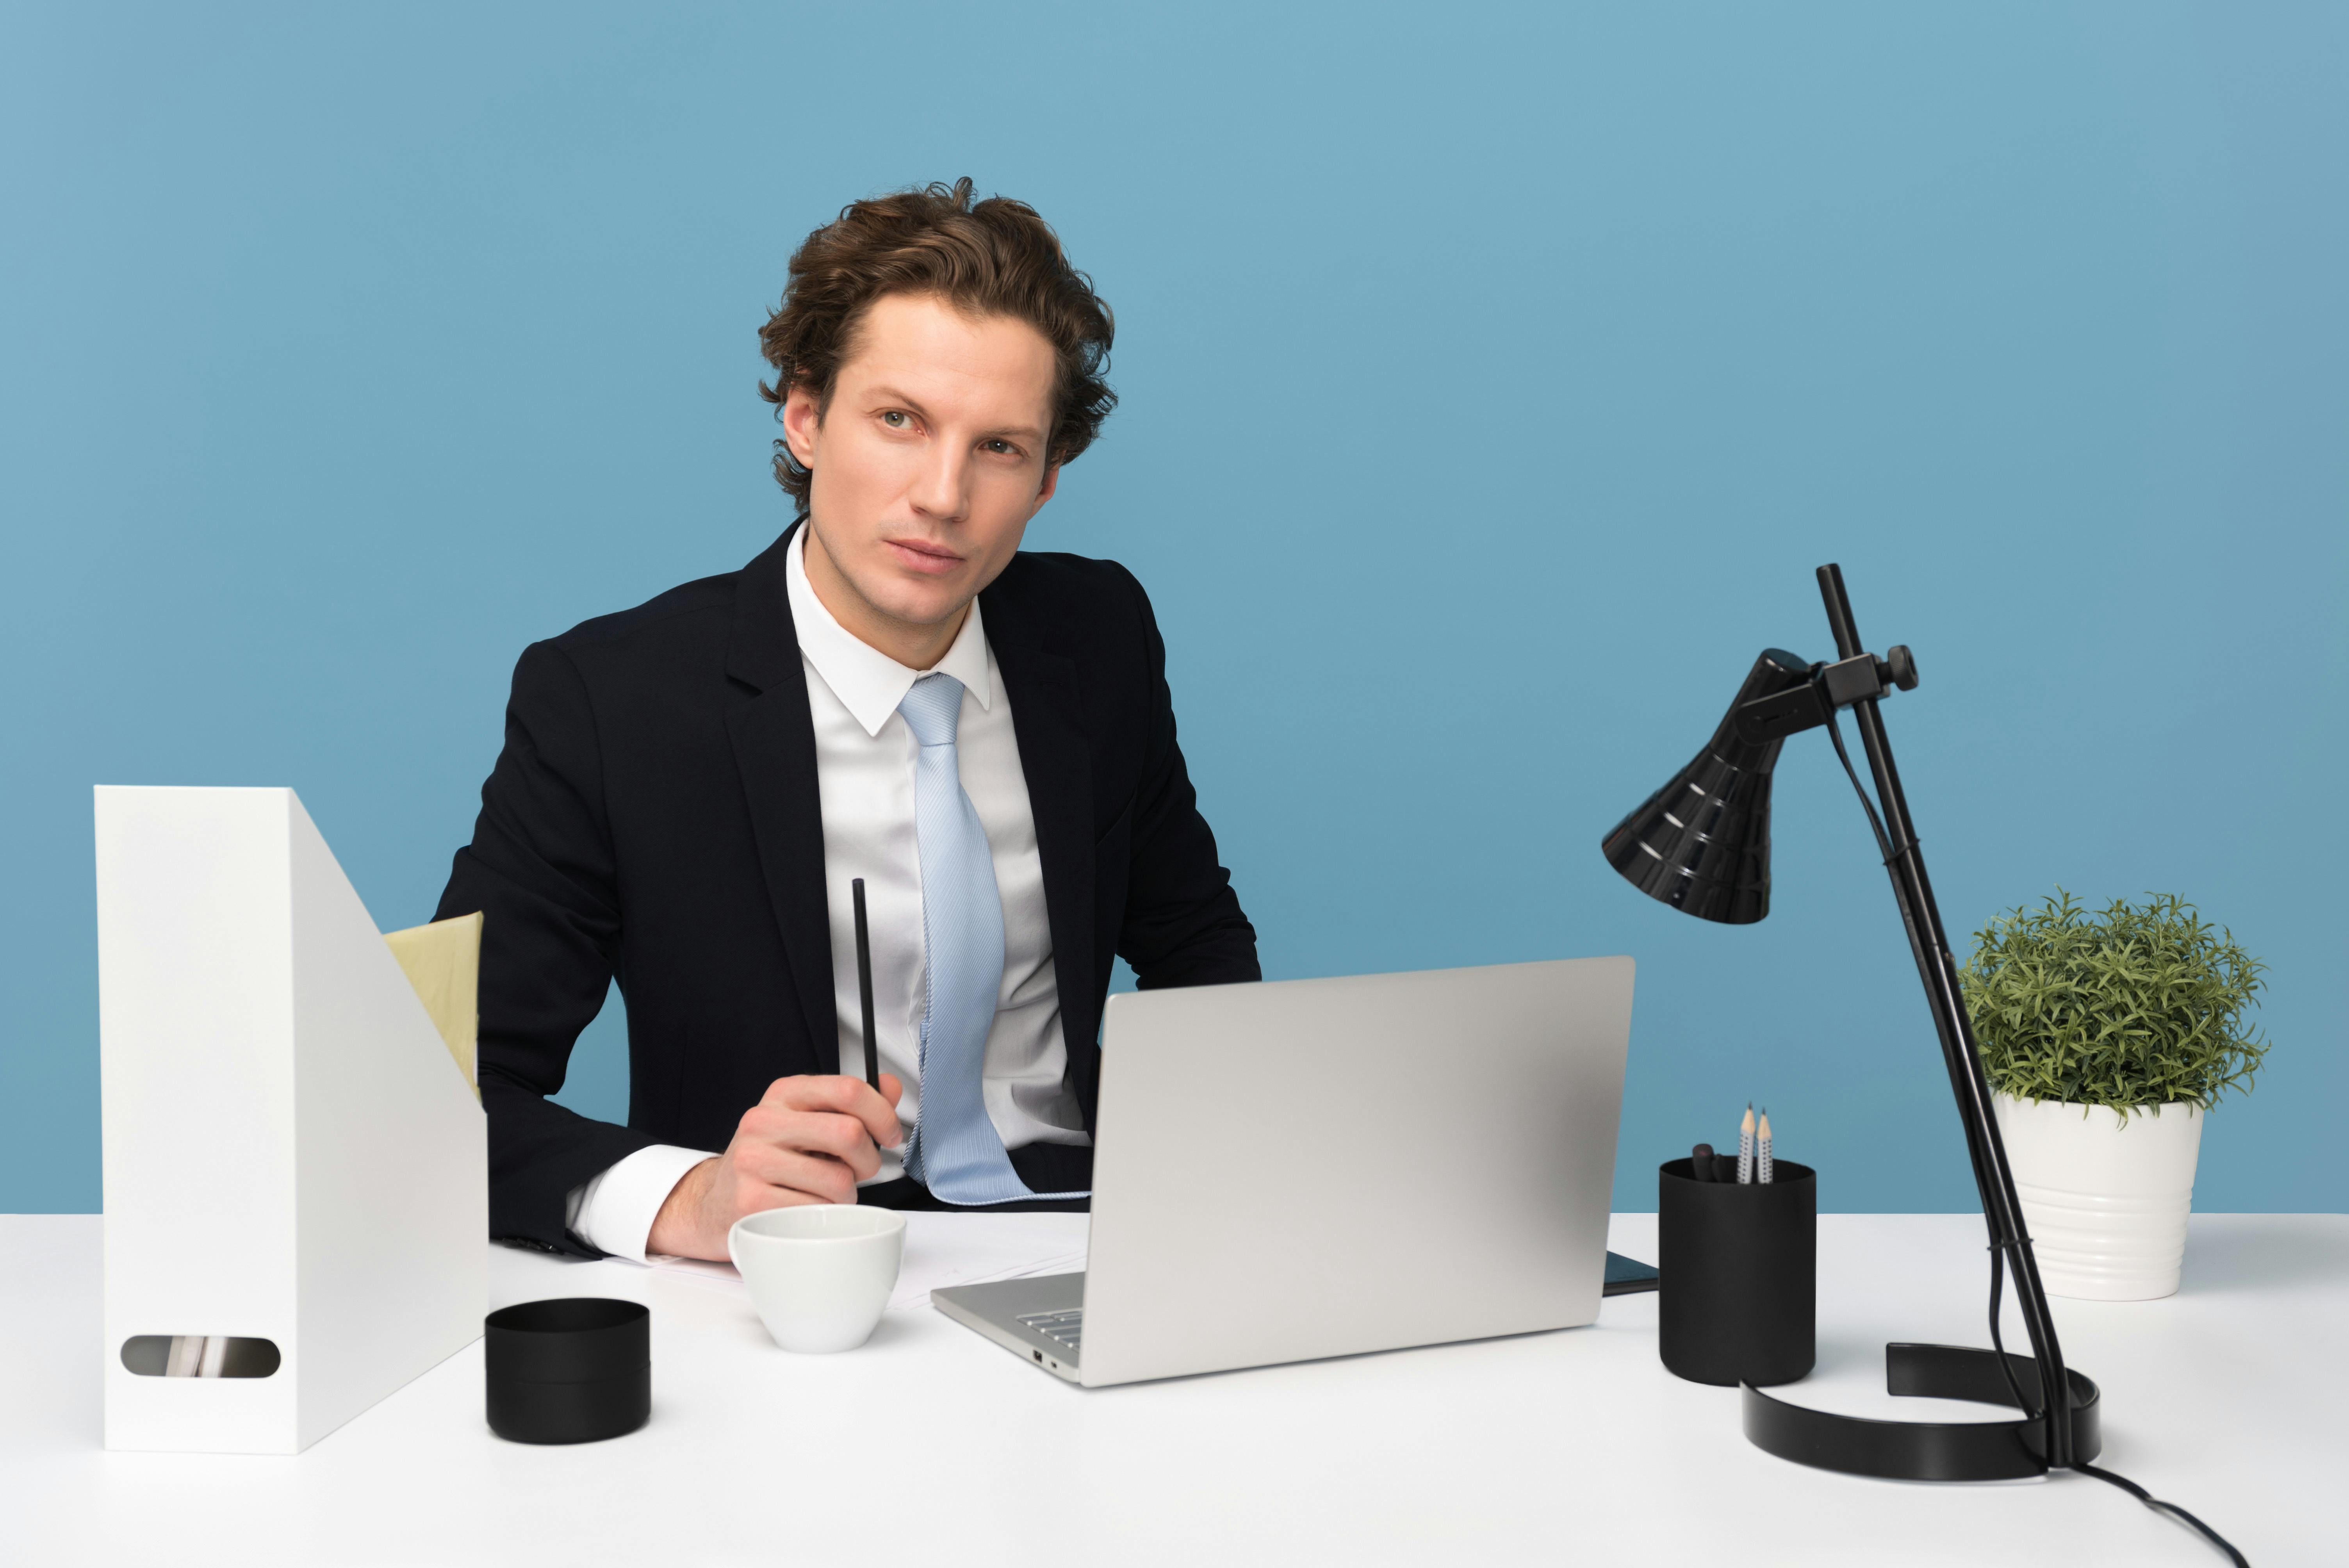
<path id="1" fill-rule="evenodd" d="M 794 523 L 796 530 L 796 523 Z M 824 892 L 824 812 L 815 782 L 815 718 L 799 664 L 799 629 L 785 589 L 792 530 L 742 568 L 726 674 L 756 697 L 726 714 L 759 869 L 808 1021 L 817 1070 L 841 1070 L 841 1019 L 832 981 L 832 911 Z M 1010 683 L 1010 676 L 1005 676 Z M 1055 930 L 1057 934 L 1057 930 Z"/>

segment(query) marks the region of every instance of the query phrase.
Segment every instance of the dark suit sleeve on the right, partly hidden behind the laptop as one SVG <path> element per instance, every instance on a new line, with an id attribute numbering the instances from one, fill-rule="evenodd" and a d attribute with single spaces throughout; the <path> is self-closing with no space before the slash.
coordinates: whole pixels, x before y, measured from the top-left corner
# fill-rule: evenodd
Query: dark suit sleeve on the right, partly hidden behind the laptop
<path id="1" fill-rule="evenodd" d="M 1174 742 L 1174 697 L 1165 678 L 1165 638 L 1149 594 L 1123 573 L 1142 620 L 1146 664 L 1146 735 L 1142 784 L 1135 791 L 1132 861 L 1118 958 L 1144 991 L 1217 986 L 1264 979 L 1257 927 L 1240 913 L 1231 873 L 1217 859 L 1214 831 L 1198 812 L 1198 793 Z"/>

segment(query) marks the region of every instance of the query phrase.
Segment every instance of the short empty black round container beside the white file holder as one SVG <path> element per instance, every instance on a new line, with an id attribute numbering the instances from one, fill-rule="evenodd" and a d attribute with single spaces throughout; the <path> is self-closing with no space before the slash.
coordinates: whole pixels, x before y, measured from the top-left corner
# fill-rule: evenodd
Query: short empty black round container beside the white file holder
<path id="1" fill-rule="evenodd" d="M 592 1444 L 653 1413 L 653 1314 L 637 1300 L 524 1300 L 482 1319 L 489 1430 L 514 1444 Z"/>

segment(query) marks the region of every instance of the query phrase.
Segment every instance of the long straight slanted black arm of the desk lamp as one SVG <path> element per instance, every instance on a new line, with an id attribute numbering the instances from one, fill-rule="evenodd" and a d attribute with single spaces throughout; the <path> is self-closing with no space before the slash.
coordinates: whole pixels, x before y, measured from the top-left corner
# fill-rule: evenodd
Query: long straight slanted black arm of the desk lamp
<path id="1" fill-rule="evenodd" d="M 1828 606 L 1837 660 L 1860 657 L 1860 634 L 1851 620 L 1851 599 L 1844 592 L 1842 568 L 1832 563 L 1820 566 L 1818 592 Z M 2015 1272 L 2015 1305 L 2022 1312 L 2032 1354 L 2039 1359 L 2039 1387 L 2046 1404 L 2041 1413 L 2046 1462 L 2051 1469 L 2067 1469 L 2074 1465 L 2072 1418 L 2065 1408 L 2069 1404 L 2065 1390 L 2072 1383 L 2065 1373 L 2062 1347 L 2055 1343 L 2055 1319 L 2048 1310 L 2046 1289 L 2039 1282 L 2039 1263 L 2032 1258 L 2030 1230 L 2022 1223 L 2022 1199 L 2015 1195 L 2015 1176 L 2006 1164 L 2006 1141 L 1999 1136 L 1999 1124 L 1992 1115 L 1990 1077 L 1983 1073 L 1983 1054 L 1973 1042 L 1973 1026 L 1966 1019 L 1957 960 L 1950 955 L 1950 941 L 1940 925 L 1940 906 L 1933 901 L 1933 883 L 1924 871 L 1924 852 L 1917 847 L 1917 829 L 1910 822 L 1907 796 L 1900 789 L 1900 770 L 1893 763 L 1893 746 L 1884 732 L 1884 714 L 1877 709 L 1877 697 L 1856 699 L 1851 716 L 1860 730 L 1860 746 L 1867 751 L 1867 770 L 1877 782 L 1884 831 L 1893 845 L 1884 871 L 1891 876 L 1893 901 L 1900 906 L 1900 922 L 1907 927 L 1910 951 L 1917 955 L 1917 976 L 1933 1012 L 1933 1030 L 1940 1035 L 1943 1066 L 1950 1070 L 1950 1094 L 1957 1099 L 1957 1117 L 1966 1129 L 1966 1153 L 1973 1160 L 1973 1183 L 1983 1195 L 1990 1244 L 2004 1253 Z"/>

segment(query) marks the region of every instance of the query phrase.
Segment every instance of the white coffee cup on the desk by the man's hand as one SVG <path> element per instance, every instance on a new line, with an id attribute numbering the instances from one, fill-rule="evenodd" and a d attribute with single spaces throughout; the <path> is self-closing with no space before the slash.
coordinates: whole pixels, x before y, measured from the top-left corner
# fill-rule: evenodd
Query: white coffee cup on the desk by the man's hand
<path id="1" fill-rule="evenodd" d="M 726 1232 L 759 1322 L 785 1350 L 855 1350 L 871 1338 L 904 1261 L 904 1214 L 806 1204 L 745 1214 Z"/>

